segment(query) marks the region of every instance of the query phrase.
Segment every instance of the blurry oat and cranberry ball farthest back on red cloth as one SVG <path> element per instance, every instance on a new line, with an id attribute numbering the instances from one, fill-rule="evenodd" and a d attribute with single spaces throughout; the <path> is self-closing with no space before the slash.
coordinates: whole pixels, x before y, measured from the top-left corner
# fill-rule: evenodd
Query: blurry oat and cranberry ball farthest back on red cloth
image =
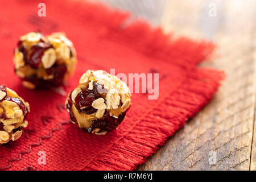
<path id="1" fill-rule="evenodd" d="M 76 63 L 76 50 L 63 33 L 30 32 L 20 37 L 14 52 L 15 73 L 28 89 L 63 84 Z"/>

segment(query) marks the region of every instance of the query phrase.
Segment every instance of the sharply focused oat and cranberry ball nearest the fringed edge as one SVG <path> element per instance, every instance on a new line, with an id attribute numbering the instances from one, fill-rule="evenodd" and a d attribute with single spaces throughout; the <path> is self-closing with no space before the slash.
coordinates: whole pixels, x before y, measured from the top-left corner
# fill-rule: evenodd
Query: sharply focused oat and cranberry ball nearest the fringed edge
<path id="1" fill-rule="evenodd" d="M 116 129 L 131 105 L 125 82 L 105 71 L 86 71 L 65 102 L 71 122 L 88 133 Z"/>

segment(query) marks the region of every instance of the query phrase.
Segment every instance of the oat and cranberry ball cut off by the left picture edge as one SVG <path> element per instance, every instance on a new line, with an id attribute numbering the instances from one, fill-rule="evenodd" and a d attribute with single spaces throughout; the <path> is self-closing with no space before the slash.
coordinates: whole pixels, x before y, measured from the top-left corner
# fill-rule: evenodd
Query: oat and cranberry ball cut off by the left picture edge
<path id="1" fill-rule="evenodd" d="M 17 140 L 22 135 L 30 105 L 13 90 L 0 85 L 0 145 Z"/>

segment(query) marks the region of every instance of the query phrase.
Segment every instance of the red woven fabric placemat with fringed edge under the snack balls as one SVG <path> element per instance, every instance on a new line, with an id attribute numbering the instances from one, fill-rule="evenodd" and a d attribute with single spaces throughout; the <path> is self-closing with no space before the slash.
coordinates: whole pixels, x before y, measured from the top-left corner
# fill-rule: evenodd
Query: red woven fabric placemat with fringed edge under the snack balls
<path id="1" fill-rule="evenodd" d="M 46 3 L 47 16 L 38 13 Z M 127 170 L 146 161 L 212 98 L 224 73 L 198 68 L 213 44 L 172 38 L 145 22 L 127 24 L 127 13 L 77 1 L 5 1 L 0 6 L 0 82 L 28 101 L 26 134 L 0 146 L 0 169 Z M 68 123 L 65 97 L 53 90 L 27 90 L 14 75 L 13 51 L 20 35 L 64 31 L 78 53 L 70 92 L 87 69 L 119 73 L 158 72 L 159 98 L 133 94 L 131 109 L 118 130 L 90 135 Z M 45 119 L 46 117 L 52 117 Z M 39 151 L 46 165 L 38 164 Z"/>

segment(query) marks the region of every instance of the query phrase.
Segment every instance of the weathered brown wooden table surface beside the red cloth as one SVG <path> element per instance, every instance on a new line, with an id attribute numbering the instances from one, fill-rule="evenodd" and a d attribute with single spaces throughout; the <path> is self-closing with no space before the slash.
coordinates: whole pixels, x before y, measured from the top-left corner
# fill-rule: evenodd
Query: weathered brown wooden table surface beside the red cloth
<path id="1" fill-rule="evenodd" d="M 177 36 L 214 41 L 216 56 L 200 66 L 226 73 L 213 100 L 138 170 L 256 170 L 256 1 L 101 1 Z"/>

